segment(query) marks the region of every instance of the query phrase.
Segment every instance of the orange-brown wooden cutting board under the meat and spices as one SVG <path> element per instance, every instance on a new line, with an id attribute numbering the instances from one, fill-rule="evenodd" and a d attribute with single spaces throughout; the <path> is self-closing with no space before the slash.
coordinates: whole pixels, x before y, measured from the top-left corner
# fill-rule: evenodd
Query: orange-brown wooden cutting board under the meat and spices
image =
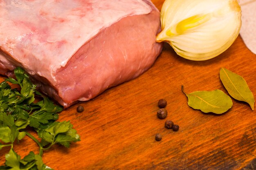
<path id="1" fill-rule="evenodd" d="M 164 0 L 153 0 L 160 10 Z M 70 120 L 81 141 L 70 149 L 54 146 L 44 152 L 46 165 L 55 170 L 254 170 L 256 167 L 256 112 L 233 100 L 222 115 L 193 110 L 187 93 L 220 89 L 225 67 L 247 81 L 256 98 L 256 55 L 240 36 L 211 60 L 190 61 L 164 49 L 155 64 L 140 77 L 83 102 L 83 113 L 72 106 L 59 115 Z M 168 117 L 180 130 L 164 128 L 157 118 L 157 102 L 166 99 Z M 155 141 L 155 134 L 162 134 Z M 22 157 L 38 146 L 25 137 L 15 148 Z M 0 165 L 9 148 L 0 152 Z"/>

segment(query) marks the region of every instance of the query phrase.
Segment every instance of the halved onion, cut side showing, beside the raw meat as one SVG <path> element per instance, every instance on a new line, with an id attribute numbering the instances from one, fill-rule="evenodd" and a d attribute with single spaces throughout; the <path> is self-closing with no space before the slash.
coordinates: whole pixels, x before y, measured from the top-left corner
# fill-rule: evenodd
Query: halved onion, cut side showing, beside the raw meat
<path id="1" fill-rule="evenodd" d="M 162 31 L 157 42 L 168 42 L 189 60 L 208 60 L 224 52 L 241 28 L 237 0 L 165 0 Z"/>

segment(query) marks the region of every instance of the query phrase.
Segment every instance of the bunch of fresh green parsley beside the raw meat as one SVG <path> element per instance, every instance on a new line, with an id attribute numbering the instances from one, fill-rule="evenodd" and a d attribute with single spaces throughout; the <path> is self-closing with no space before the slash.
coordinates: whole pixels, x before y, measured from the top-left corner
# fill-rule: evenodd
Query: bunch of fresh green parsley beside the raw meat
<path id="1" fill-rule="evenodd" d="M 68 148 L 70 143 L 80 141 L 80 137 L 70 121 L 55 121 L 58 119 L 57 113 L 63 108 L 36 91 L 36 85 L 31 83 L 22 68 L 16 68 L 14 73 L 16 79 L 7 78 L 0 83 L 0 150 L 11 147 L 5 155 L 5 165 L 0 166 L 0 170 L 52 170 L 43 163 L 43 151 L 54 144 Z M 7 82 L 20 85 L 20 91 L 11 89 Z M 35 95 L 42 100 L 35 102 Z M 28 126 L 34 128 L 41 141 L 26 131 Z M 21 159 L 13 150 L 13 145 L 25 135 L 38 144 L 39 154 L 29 152 Z"/>

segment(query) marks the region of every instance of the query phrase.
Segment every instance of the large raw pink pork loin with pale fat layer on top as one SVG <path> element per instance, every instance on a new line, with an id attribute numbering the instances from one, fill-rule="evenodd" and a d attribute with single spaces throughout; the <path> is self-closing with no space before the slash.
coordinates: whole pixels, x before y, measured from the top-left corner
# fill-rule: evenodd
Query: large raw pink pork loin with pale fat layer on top
<path id="1" fill-rule="evenodd" d="M 66 108 L 152 66 L 159 29 L 150 0 L 0 0 L 0 74 L 24 68 Z"/>

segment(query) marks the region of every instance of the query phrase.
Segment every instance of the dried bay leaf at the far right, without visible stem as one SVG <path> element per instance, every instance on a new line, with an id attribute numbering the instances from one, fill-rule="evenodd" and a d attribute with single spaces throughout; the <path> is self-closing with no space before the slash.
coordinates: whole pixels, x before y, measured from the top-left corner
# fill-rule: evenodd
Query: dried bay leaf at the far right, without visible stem
<path id="1" fill-rule="evenodd" d="M 254 110 L 254 95 L 242 76 L 226 68 L 220 68 L 220 79 L 231 97 L 247 102 Z"/>

